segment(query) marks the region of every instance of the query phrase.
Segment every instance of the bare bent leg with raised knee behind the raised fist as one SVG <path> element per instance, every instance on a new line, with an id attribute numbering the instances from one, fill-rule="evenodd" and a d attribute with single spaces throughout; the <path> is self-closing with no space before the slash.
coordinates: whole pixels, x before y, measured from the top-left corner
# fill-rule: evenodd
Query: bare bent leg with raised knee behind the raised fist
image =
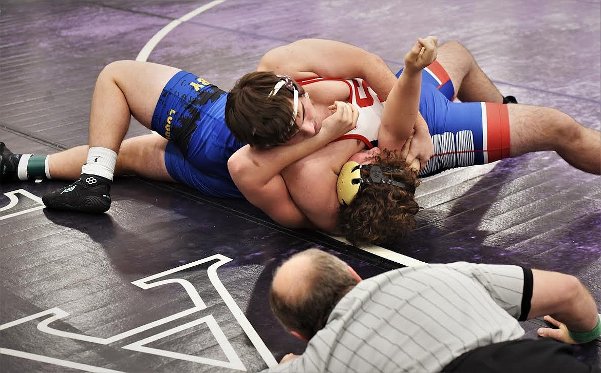
<path id="1" fill-rule="evenodd" d="M 439 46 L 436 61 L 447 70 L 456 96 L 462 102 L 503 102 L 499 89 L 484 74 L 472 53 L 458 41 Z"/>

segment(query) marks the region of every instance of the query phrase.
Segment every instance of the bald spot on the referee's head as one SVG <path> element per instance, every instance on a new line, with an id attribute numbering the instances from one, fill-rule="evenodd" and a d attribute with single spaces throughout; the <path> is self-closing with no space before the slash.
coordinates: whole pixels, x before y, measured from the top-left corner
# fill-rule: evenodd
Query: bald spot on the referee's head
<path id="1" fill-rule="evenodd" d="M 299 296 L 307 294 L 313 274 L 311 255 L 293 256 L 276 271 L 272 291 L 285 302 L 293 302 Z"/>

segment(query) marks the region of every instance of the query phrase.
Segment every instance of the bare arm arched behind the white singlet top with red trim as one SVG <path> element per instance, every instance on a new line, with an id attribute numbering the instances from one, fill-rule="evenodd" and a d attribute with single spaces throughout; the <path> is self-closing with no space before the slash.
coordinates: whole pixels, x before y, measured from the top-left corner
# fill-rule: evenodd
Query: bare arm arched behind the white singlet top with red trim
<path id="1" fill-rule="evenodd" d="M 294 79 L 359 77 L 386 100 L 397 78 L 377 55 L 350 44 L 325 39 L 303 39 L 265 53 L 257 71 L 275 71 Z"/>

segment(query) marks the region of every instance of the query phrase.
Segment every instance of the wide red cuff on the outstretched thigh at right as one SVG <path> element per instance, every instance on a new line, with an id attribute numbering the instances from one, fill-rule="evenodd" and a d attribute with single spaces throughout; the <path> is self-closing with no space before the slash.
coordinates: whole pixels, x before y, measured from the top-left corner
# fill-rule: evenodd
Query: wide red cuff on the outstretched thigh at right
<path id="1" fill-rule="evenodd" d="M 507 105 L 489 102 L 485 105 L 488 161 L 495 162 L 509 157 L 509 113 Z"/>

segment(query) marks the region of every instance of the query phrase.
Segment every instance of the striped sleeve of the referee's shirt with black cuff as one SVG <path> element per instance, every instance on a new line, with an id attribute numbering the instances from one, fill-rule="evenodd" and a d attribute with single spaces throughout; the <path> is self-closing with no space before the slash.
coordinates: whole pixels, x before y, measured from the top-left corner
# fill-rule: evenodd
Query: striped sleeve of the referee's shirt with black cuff
<path id="1" fill-rule="evenodd" d="M 530 268 L 505 264 L 447 264 L 481 284 L 493 300 L 517 320 L 526 320 L 532 299 Z"/>

